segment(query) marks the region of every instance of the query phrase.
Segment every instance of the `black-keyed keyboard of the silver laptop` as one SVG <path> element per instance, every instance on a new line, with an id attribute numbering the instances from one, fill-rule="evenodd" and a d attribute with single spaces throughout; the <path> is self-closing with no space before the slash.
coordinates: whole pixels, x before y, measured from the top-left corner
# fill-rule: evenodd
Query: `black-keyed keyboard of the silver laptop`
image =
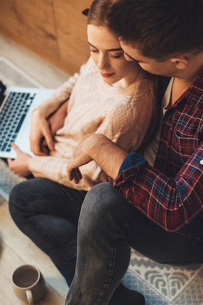
<path id="1" fill-rule="evenodd" d="M 10 92 L 0 111 L 0 151 L 10 152 L 36 94 Z"/>

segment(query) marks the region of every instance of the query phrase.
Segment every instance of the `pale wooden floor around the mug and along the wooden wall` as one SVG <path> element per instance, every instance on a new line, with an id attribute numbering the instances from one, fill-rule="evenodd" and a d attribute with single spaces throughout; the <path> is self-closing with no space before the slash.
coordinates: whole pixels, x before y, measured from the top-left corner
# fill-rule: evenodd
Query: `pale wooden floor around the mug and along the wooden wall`
<path id="1" fill-rule="evenodd" d="M 0 56 L 12 60 L 43 86 L 56 88 L 69 75 L 0 34 Z M 13 293 L 11 276 L 23 265 L 36 265 L 45 277 L 47 292 L 36 305 L 64 305 L 68 286 L 50 258 L 16 227 L 8 203 L 0 197 L 0 305 L 22 305 Z"/>

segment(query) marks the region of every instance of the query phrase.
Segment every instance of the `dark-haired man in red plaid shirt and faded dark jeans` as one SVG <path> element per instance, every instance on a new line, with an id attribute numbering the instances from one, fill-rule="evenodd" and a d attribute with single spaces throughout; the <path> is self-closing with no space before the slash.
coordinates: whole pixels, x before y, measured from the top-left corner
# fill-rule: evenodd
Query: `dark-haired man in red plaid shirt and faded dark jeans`
<path id="1" fill-rule="evenodd" d="M 80 143 L 70 160 L 75 183 L 79 167 L 92 159 L 111 178 L 83 202 L 66 305 L 107 305 L 130 247 L 165 264 L 203 263 L 203 1 L 113 0 L 109 20 L 127 59 L 173 77 L 154 166 L 101 134 Z M 150 159 L 150 152 L 153 145 L 143 155 Z"/>

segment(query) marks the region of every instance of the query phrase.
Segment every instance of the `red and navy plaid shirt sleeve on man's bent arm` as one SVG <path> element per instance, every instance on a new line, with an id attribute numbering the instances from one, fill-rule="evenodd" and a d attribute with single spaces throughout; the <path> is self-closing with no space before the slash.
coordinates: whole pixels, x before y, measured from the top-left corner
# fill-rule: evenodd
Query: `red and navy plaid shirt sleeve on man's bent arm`
<path id="1" fill-rule="evenodd" d="M 147 162 L 123 170 L 110 182 L 129 203 L 163 229 L 174 232 L 203 212 L 203 144 L 188 159 L 174 178 Z M 128 159 L 135 164 L 136 153 Z M 143 159 L 144 160 L 144 159 Z M 125 160 L 124 162 L 129 160 Z"/>

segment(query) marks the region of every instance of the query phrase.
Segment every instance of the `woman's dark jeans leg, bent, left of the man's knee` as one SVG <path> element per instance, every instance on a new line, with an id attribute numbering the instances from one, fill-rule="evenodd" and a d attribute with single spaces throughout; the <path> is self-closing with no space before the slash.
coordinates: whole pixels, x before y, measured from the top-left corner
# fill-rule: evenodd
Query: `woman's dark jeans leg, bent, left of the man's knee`
<path id="1" fill-rule="evenodd" d="M 55 263 L 71 284 L 76 262 L 77 222 L 86 191 L 44 178 L 16 185 L 9 210 L 18 228 Z"/>

